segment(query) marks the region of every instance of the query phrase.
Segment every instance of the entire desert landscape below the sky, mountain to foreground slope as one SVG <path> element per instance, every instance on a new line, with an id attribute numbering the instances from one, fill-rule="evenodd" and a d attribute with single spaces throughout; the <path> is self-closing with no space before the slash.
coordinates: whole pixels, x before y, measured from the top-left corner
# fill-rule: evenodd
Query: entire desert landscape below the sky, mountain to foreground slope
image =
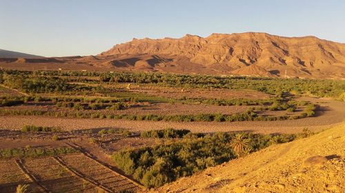
<path id="1" fill-rule="evenodd" d="M 314 37 L 245 33 L 134 39 L 97 56 L 2 51 L 12 58 L 0 59 L 0 190 L 309 190 L 290 177 L 311 190 L 344 190 L 344 50 Z M 319 148 L 291 150 L 313 140 Z M 297 168 L 257 179 L 283 157 Z M 193 174 L 203 180 L 193 183 Z"/>

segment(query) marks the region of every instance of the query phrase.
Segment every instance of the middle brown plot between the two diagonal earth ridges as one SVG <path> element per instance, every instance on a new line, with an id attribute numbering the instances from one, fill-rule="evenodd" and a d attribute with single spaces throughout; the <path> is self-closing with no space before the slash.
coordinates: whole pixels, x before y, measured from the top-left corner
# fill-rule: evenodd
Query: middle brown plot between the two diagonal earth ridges
<path id="1" fill-rule="evenodd" d="M 53 157 L 26 159 L 23 167 L 49 192 L 97 192 L 96 185 L 61 166 Z"/>

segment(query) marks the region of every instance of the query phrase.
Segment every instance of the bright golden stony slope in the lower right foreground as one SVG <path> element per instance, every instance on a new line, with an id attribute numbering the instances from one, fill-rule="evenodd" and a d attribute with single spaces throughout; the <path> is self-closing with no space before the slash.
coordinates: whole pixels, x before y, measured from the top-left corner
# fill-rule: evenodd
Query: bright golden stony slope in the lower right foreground
<path id="1" fill-rule="evenodd" d="M 208 168 L 155 192 L 344 192 L 345 124 Z"/>

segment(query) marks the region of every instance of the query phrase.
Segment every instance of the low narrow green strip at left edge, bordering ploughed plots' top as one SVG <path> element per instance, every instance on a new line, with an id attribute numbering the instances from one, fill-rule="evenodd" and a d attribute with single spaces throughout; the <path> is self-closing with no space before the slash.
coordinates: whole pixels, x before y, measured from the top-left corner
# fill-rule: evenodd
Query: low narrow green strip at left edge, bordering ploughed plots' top
<path id="1" fill-rule="evenodd" d="M 61 154 L 68 154 L 78 152 L 74 148 L 8 148 L 0 149 L 0 159 L 10 158 L 34 158 L 34 157 L 48 157 L 57 156 Z"/>

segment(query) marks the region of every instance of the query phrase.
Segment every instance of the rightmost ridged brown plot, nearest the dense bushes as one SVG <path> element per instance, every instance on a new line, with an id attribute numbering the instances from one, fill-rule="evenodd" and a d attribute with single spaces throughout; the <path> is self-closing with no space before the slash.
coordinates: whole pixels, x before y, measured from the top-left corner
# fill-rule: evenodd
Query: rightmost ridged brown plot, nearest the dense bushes
<path id="1" fill-rule="evenodd" d="M 124 192 L 138 190 L 138 186 L 129 179 L 117 174 L 106 166 L 102 166 L 97 161 L 92 160 L 82 154 L 62 155 L 61 161 L 67 167 L 76 170 L 80 174 L 87 176 L 90 180 L 99 183 L 109 192 Z"/>

